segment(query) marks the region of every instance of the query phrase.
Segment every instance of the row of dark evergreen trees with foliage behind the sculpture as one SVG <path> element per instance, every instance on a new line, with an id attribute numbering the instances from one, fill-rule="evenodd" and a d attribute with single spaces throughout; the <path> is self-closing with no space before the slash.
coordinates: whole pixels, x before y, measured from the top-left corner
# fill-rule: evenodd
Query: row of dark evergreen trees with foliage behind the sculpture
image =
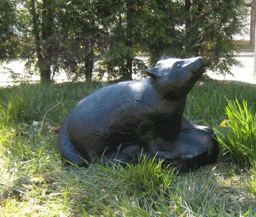
<path id="1" fill-rule="evenodd" d="M 18 55 L 46 82 L 60 70 L 132 79 L 163 56 L 201 55 L 209 70 L 228 73 L 246 12 L 243 0 L 3 0 L 0 9 L 1 61 Z"/>

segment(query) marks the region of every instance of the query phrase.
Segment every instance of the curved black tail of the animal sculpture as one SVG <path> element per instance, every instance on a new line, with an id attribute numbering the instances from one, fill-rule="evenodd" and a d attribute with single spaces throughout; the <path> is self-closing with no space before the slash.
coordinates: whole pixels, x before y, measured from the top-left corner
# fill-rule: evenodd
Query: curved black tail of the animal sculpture
<path id="1" fill-rule="evenodd" d="M 59 130 L 59 152 L 69 164 L 86 165 L 85 161 L 80 157 L 79 152 L 72 145 L 67 131 L 68 117 L 64 120 L 61 129 Z"/>

